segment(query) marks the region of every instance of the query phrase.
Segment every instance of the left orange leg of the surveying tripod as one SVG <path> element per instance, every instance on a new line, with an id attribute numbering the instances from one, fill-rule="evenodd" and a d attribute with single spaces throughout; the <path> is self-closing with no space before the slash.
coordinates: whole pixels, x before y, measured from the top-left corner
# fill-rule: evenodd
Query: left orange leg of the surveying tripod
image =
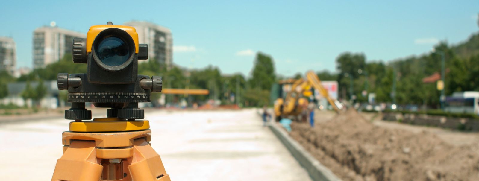
<path id="1" fill-rule="evenodd" d="M 99 181 L 103 166 L 96 158 L 94 141 L 73 141 L 58 159 L 52 181 Z"/>

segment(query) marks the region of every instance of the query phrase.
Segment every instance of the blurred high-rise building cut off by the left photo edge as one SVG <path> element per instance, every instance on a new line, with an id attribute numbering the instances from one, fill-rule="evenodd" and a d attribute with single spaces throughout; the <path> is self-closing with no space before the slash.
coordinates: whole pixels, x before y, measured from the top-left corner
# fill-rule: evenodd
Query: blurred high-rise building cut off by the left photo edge
<path id="1" fill-rule="evenodd" d="M 13 75 L 17 61 L 15 51 L 15 41 L 12 38 L 0 37 L 0 71 Z"/>

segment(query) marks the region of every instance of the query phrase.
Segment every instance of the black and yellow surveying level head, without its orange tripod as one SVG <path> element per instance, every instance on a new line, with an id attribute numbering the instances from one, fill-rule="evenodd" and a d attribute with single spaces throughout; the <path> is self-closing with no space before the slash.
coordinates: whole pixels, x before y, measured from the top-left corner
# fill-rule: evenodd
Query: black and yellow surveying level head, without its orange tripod
<path id="1" fill-rule="evenodd" d="M 138 60 L 148 59 L 148 45 L 137 42 L 133 27 L 115 26 L 110 22 L 92 26 L 86 39 L 73 40 L 73 62 L 88 66 L 87 73 L 58 74 L 58 89 L 68 90 L 68 102 L 72 104 L 65 111 L 65 119 L 91 119 L 85 102 L 111 108 L 107 110 L 107 117 L 130 121 L 144 118 L 144 110 L 138 108 L 138 102 L 150 102 L 151 92 L 161 91 L 162 79 L 138 75 Z M 88 49 L 91 51 L 87 52 Z"/>

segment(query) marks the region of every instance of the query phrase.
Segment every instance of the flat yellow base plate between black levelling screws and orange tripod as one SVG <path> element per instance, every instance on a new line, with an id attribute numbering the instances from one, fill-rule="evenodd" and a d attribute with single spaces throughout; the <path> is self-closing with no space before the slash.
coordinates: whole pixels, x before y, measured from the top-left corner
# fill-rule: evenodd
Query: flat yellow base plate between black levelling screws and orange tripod
<path id="1" fill-rule="evenodd" d="M 93 121 L 70 122 L 74 132 L 137 131 L 149 129 L 148 120 L 126 121 L 118 118 L 95 118 Z"/>

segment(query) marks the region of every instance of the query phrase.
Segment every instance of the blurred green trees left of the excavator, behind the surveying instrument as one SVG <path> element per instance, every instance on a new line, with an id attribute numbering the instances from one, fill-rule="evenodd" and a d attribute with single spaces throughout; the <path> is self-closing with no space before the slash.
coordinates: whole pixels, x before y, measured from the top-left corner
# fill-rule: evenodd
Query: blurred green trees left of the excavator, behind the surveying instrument
<path id="1" fill-rule="evenodd" d="M 45 68 L 36 68 L 29 74 L 14 78 L 7 72 L 0 72 L 0 98 L 8 96 L 7 84 L 11 82 L 26 82 L 21 93 L 23 99 L 38 102 L 46 95 L 45 80 L 56 80 L 59 72 L 86 73 L 86 64 L 72 63 L 71 54 L 66 54 L 55 63 Z M 202 103 L 208 99 L 220 100 L 222 104 L 240 103 L 243 106 L 266 105 L 269 102 L 269 90 L 276 81 L 273 58 L 259 52 L 255 58 L 250 79 L 241 73 L 222 75 L 219 68 L 208 66 L 201 69 L 186 69 L 173 65 L 170 69 L 154 58 L 138 64 L 138 74 L 158 75 L 163 78 L 163 88 L 174 89 L 207 89 L 209 95 L 167 95 L 167 102 L 179 102 L 187 99 L 188 102 Z M 38 82 L 36 87 L 30 82 Z M 239 102 L 233 100 L 240 98 Z M 160 98 L 160 94 L 152 94 L 152 100 Z M 59 99 L 66 101 L 66 92 L 60 91 Z"/>

